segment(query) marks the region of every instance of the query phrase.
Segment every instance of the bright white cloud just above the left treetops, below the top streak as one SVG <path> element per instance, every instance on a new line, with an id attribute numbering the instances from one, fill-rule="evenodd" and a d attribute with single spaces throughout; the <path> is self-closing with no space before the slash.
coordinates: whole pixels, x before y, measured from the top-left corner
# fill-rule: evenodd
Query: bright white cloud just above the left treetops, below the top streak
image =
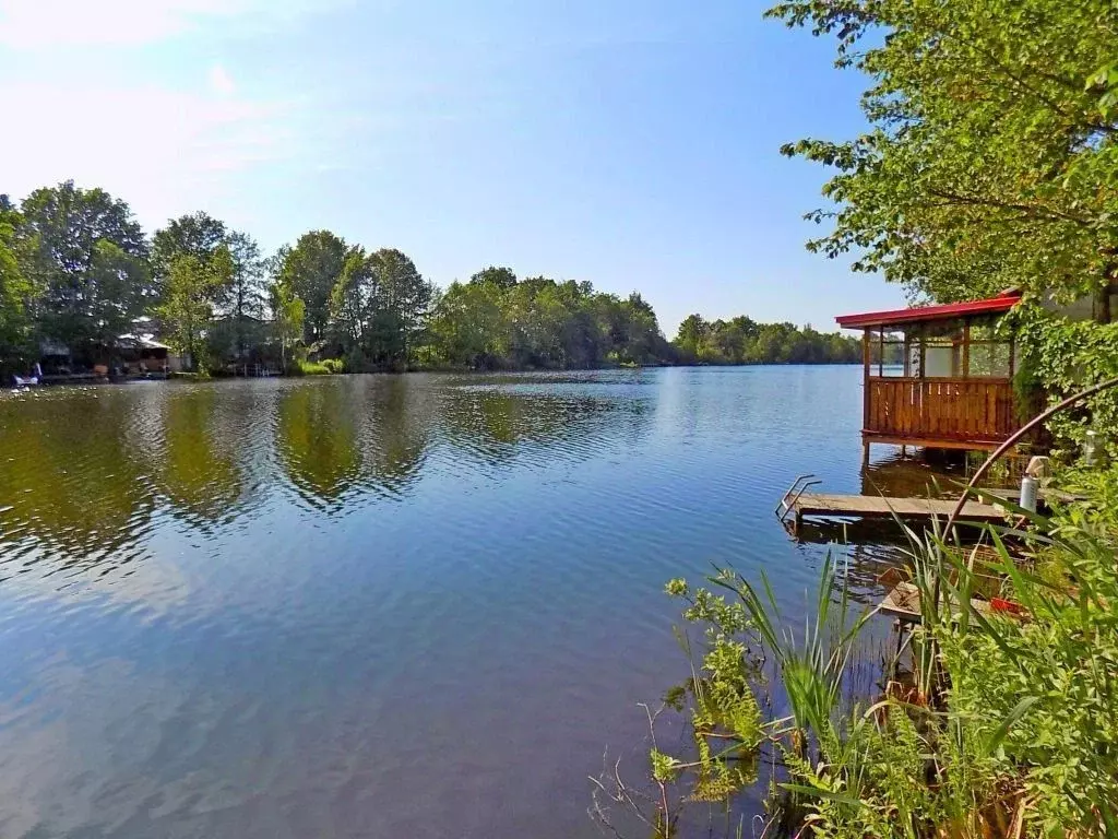
<path id="1" fill-rule="evenodd" d="M 212 79 L 211 79 L 212 81 Z M 0 84 L 13 123 L 4 187 L 23 196 L 74 178 L 127 200 L 148 226 L 207 207 L 230 172 L 295 153 L 283 103 L 134 87 Z"/>

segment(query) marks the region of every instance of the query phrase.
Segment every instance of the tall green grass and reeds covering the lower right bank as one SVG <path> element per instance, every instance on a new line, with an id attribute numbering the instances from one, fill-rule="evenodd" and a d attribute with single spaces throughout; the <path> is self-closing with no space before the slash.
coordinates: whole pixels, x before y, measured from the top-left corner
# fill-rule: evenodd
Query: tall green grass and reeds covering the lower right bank
<path id="1" fill-rule="evenodd" d="M 1078 489 L 1086 501 L 986 528 L 970 547 L 910 530 L 909 578 L 921 595 L 904 653 L 913 684 L 882 684 L 853 709 L 843 686 L 872 615 L 851 615 L 830 559 L 798 631 L 764 575 L 719 571 L 697 590 L 673 581 L 705 641 L 671 697 L 695 747 L 655 753 L 662 792 L 713 791 L 730 807 L 756 777 L 740 772 L 743 757 L 768 754 L 774 830 L 1118 837 L 1118 472 Z M 978 600 L 992 595 L 1007 611 Z"/>

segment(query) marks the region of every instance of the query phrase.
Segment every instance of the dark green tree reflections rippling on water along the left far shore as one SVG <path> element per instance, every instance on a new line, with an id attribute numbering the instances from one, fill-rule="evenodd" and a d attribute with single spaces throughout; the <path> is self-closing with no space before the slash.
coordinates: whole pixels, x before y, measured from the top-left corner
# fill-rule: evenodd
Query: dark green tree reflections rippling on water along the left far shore
<path id="1" fill-rule="evenodd" d="M 0 560 L 117 567 L 143 554 L 164 510 L 206 534 L 287 488 L 333 516 L 400 500 L 425 474 L 584 461 L 647 432 L 650 395 L 632 379 L 366 376 L 3 398 Z"/>

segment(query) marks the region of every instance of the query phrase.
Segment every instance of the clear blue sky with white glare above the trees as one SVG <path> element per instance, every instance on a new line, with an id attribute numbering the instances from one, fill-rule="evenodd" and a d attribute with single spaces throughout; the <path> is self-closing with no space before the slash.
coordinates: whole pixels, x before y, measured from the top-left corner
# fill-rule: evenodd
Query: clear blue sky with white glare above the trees
<path id="1" fill-rule="evenodd" d="M 329 228 L 445 285 L 487 264 L 832 329 L 899 289 L 806 253 L 863 129 L 831 45 L 742 0 L 0 0 L 0 191 L 74 178 L 149 229 Z"/>

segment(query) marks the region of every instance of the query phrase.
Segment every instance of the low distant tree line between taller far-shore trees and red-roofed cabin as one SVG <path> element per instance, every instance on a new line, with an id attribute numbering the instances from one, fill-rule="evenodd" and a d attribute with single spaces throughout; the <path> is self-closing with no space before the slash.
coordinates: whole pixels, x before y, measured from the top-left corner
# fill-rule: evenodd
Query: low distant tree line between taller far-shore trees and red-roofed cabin
<path id="1" fill-rule="evenodd" d="M 799 329 L 792 323 L 758 323 L 745 315 L 707 321 L 689 315 L 675 337 L 683 362 L 717 365 L 855 364 L 862 342 L 836 332 Z"/>

